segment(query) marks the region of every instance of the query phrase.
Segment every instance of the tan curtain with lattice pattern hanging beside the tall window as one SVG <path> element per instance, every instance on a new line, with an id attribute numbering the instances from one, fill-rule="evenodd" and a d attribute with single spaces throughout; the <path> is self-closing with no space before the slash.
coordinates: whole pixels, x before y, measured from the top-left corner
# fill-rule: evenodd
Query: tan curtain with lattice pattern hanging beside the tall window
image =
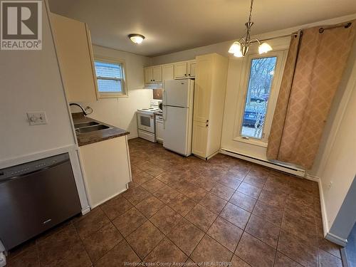
<path id="1" fill-rule="evenodd" d="M 348 28 L 319 33 L 318 26 L 292 37 L 268 137 L 268 159 L 305 169 L 313 166 L 355 28 L 352 21 Z"/>

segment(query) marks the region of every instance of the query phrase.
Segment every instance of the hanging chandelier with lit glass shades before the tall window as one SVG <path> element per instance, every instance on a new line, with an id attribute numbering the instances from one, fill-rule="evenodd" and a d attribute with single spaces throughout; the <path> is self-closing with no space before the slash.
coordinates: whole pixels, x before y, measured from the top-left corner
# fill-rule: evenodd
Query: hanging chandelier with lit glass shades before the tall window
<path id="1" fill-rule="evenodd" d="M 251 39 L 250 31 L 253 25 L 253 22 L 251 21 L 252 6 L 253 0 L 251 0 L 250 16 L 248 16 L 248 22 L 245 23 L 246 33 L 239 39 L 239 41 L 235 41 L 229 49 L 229 53 L 234 54 L 234 56 L 236 56 L 237 58 L 242 58 L 246 56 L 248 52 L 248 47 L 251 43 L 259 43 L 258 53 L 260 54 L 267 53 L 268 51 L 272 50 L 272 47 L 268 43 L 261 43 L 257 38 Z"/>

